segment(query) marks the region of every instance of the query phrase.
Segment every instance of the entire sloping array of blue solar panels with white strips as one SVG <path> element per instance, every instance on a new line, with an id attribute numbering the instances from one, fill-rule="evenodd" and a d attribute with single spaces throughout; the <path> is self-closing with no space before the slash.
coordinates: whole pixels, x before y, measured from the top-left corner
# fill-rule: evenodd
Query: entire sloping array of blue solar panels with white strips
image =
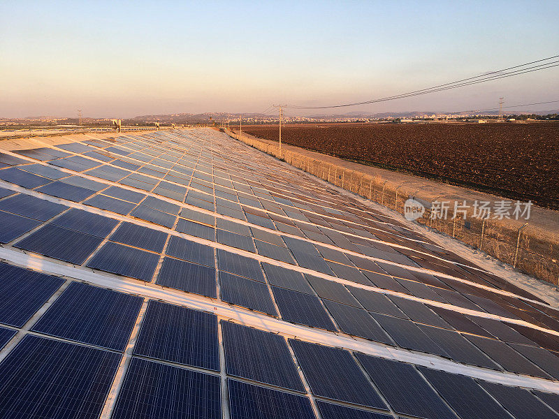
<path id="1" fill-rule="evenodd" d="M 557 309 L 223 133 L 0 163 L 0 417 L 559 417 Z"/>

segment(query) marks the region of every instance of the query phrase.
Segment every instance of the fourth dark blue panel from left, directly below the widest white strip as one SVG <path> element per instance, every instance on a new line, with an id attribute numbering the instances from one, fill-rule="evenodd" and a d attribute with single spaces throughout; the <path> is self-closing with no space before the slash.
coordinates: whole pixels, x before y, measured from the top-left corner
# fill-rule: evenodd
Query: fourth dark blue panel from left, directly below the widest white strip
<path id="1" fill-rule="evenodd" d="M 305 392 L 282 336 L 227 321 L 222 331 L 227 374 Z"/>

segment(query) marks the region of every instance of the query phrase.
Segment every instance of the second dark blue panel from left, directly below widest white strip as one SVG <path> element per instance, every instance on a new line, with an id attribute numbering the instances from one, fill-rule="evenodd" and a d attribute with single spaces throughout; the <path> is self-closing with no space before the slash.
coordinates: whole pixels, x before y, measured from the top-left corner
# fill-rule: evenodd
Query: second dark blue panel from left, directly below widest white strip
<path id="1" fill-rule="evenodd" d="M 34 325 L 35 332 L 124 351 L 143 298 L 73 282 Z"/>

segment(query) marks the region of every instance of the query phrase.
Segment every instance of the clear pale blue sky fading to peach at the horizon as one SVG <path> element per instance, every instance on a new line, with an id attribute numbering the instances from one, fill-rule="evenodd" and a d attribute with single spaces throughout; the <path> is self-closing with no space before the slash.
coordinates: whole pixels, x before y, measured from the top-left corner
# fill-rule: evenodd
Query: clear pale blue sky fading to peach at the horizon
<path id="1" fill-rule="evenodd" d="M 1 0 L 0 117 L 365 101 L 557 55 L 558 15 L 556 0 Z M 335 112 L 485 109 L 500 96 L 559 100 L 559 67 Z"/>

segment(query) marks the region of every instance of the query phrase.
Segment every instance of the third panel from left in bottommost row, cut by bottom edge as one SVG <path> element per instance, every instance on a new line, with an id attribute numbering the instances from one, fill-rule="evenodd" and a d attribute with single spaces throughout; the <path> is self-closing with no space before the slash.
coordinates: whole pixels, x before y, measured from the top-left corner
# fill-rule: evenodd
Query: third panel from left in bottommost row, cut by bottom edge
<path id="1" fill-rule="evenodd" d="M 231 419 L 315 419 L 306 396 L 228 378 Z"/>

